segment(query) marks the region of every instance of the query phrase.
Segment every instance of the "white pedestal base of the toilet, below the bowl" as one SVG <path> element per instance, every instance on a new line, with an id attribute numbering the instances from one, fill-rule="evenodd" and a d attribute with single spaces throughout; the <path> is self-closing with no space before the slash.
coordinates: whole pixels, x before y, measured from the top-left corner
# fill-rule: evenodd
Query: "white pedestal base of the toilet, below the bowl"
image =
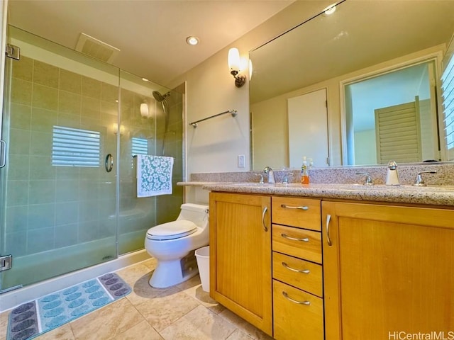
<path id="1" fill-rule="evenodd" d="M 153 288 L 168 288 L 172 285 L 182 283 L 199 273 L 194 251 L 189 252 L 182 259 L 160 261 L 150 278 L 150 285 Z"/>

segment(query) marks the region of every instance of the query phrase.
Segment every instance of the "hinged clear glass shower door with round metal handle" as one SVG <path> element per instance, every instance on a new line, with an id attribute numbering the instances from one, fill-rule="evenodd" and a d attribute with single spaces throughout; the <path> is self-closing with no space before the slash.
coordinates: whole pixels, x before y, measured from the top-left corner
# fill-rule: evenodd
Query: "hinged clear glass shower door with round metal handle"
<path id="1" fill-rule="evenodd" d="M 114 259 L 118 69 L 9 27 L 0 290 Z"/>

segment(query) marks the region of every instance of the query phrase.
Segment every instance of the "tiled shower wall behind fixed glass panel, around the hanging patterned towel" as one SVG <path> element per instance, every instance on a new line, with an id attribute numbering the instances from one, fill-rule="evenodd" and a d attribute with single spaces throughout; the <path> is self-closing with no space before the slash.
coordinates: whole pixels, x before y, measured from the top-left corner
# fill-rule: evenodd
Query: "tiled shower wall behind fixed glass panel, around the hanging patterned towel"
<path id="1" fill-rule="evenodd" d="M 123 77 L 121 77 L 123 79 Z M 165 115 L 160 103 L 153 97 L 143 96 L 121 89 L 121 120 L 123 132 L 120 137 L 120 254 L 143 248 L 145 234 L 154 225 L 175 220 L 183 201 L 182 181 L 182 95 L 172 91 L 166 98 L 169 104 L 169 126 L 165 134 Z M 140 103 L 148 103 L 150 118 L 140 115 Z M 152 198 L 136 197 L 136 159 L 131 152 L 132 138 L 148 140 L 148 154 L 162 155 L 165 134 L 164 156 L 174 157 L 172 195 Z M 138 210 L 141 210 L 138 215 Z M 132 217 L 134 214 L 135 217 Z M 124 237 L 122 238 L 122 235 Z M 127 236 L 129 235 L 129 236 Z"/>

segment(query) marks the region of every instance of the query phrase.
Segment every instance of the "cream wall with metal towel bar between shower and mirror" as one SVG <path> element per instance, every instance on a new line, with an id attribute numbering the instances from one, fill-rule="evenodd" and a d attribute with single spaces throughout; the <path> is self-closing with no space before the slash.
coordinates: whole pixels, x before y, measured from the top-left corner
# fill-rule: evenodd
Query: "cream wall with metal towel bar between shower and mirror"
<path id="1" fill-rule="evenodd" d="M 226 114 L 197 128 L 187 125 L 189 174 L 248 170 L 237 166 L 238 154 L 249 164 L 248 89 L 248 84 L 236 88 L 223 51 L 187 73 L 187 124 L 229 109 L 238 111 L 235 118 Z"/>

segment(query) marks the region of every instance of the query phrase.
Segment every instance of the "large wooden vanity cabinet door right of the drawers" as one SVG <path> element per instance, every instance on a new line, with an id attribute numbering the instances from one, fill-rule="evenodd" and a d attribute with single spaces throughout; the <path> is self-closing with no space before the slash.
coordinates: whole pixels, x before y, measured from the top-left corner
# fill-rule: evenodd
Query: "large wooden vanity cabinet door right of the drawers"
<path id="1" fill-rule="evenodd" d="M 452 334 L 454 210 L 323 201 L 322 223 L 326 340 Z"/>

